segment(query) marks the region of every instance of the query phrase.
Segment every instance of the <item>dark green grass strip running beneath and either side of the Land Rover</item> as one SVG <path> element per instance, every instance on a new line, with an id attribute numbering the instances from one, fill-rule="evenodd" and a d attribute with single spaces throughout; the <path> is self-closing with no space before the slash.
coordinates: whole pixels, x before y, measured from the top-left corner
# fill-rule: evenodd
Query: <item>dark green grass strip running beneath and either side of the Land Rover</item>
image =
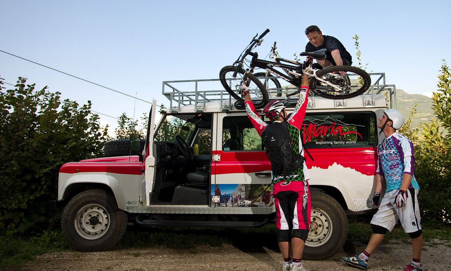
<path id="1" fill-rule="evenodd" d="M 372 234 L 368 221 L 357 221 L 349 217 L 348 241 L 351 243 L 368 243 Z M 427 246 L 443 244 L 451 246 L 451 227 L 424 226 L 424 243 Z M 384 243 L 397 240 L 410 244 L 410 236 L 401 226 L 396 226 L 387 233 Z M 196 247 L 209 245 L 221 247 L 231 244 L 242 251 L 256 252 L 263 247 L 278 251 L 276 243 L 276 226 L 265 225 L 257 229 L 205 229 L 205 228 L 141 228 L 129 227 L 119 243 L 113 249 L 120 248 L 152 248 L 164 246 L 184 250 L 196 254 Z M 2 267 L 20 266 L 44 253 L 72 251 L 61 231 L 46 230 L 37 237 L 0 236 L 0 269 Z M 141 257 L 138 252 L 130 252 L 133 257 Z M 82 257 L 82 254 L 75 257 Z"/>

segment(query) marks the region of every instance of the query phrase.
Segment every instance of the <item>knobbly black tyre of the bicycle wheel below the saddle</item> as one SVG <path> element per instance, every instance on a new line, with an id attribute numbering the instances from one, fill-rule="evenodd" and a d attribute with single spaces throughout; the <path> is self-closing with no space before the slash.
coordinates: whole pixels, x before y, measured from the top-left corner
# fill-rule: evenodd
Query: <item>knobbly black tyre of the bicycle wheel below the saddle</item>
<path id="1" fill-rule="evenodd" d="M 309 89 L 312 90 L 314 93 L 316 93 L 318 96 L 328 99 L 349 99 L 356 96 L 359 96 L 360 94 L 364 93 L 368 90 L 369 86 L 371 85 L 371 77 L 368 75 L 368 73 L 360 68 L 353 67 L 353 66 L 329 66 L 322 70 L 318 70 L 316 75 L 318 77 L 323 77 L 329 73 L 332 72 L 338 72 L 338 71 L 345 71 L 345 72 L 351 72 L 356 75 L 359 75 L 363 79 L 363 84 L 361 87 L 352 89 L 351 91 L 343 91 L 342 93 L 338 93 L 336 91 L 333 91 L 331 88 L 331 91 L 325 91 L 323 89 L 320 89 L 321 82 L 317 79 L 312 79 L 312 83 L 309 84 Z M 346 76 L 345 80 L 343 81 L 346 84 L 350 83 L 349 76 Z M 333 84 L 333 83 L 332 83 Z"/>

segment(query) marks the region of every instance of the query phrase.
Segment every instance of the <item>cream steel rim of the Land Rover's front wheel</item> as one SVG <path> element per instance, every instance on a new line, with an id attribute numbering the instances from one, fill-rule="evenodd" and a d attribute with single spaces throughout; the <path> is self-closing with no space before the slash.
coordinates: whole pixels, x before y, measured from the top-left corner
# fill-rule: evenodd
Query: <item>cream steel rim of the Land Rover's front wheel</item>
<path id="1" fill-rule="evenodd" d="M 85 239 L 101 238 L 109 228 L 110 214 L 99 204 L 88 204 L 75 215 L 74 226 L 78 235 Z"/>

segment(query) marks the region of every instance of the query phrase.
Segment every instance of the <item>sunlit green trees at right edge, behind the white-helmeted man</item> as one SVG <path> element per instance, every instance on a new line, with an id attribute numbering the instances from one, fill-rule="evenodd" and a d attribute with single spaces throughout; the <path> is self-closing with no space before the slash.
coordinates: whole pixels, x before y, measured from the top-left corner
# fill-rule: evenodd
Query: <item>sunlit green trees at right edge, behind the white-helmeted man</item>
<path id="1" fill-rule="evenodd" d="M 421 191 L 419 202 L 423 223 L 451 223 L 451 75 L 443 62 L 438 75 L 437 91 L 433 93 L 433 110 L 437 118 L 422 123 L 414 130 L 410 121 L 400 129 L 414 144 L 415 177 Z"/>

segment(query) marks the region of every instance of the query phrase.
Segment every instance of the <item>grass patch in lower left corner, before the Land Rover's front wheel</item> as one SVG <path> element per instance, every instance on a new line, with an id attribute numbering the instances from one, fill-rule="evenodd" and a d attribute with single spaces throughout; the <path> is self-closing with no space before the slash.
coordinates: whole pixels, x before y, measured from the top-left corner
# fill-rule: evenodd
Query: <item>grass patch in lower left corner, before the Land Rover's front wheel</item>
<path id="1" fill-rule="evenodd" d="M 0 236 L 0 269 L 32 261 L 37 256 L 71 250 L 59 230 L 45 230 L 39 236 Z"/>

